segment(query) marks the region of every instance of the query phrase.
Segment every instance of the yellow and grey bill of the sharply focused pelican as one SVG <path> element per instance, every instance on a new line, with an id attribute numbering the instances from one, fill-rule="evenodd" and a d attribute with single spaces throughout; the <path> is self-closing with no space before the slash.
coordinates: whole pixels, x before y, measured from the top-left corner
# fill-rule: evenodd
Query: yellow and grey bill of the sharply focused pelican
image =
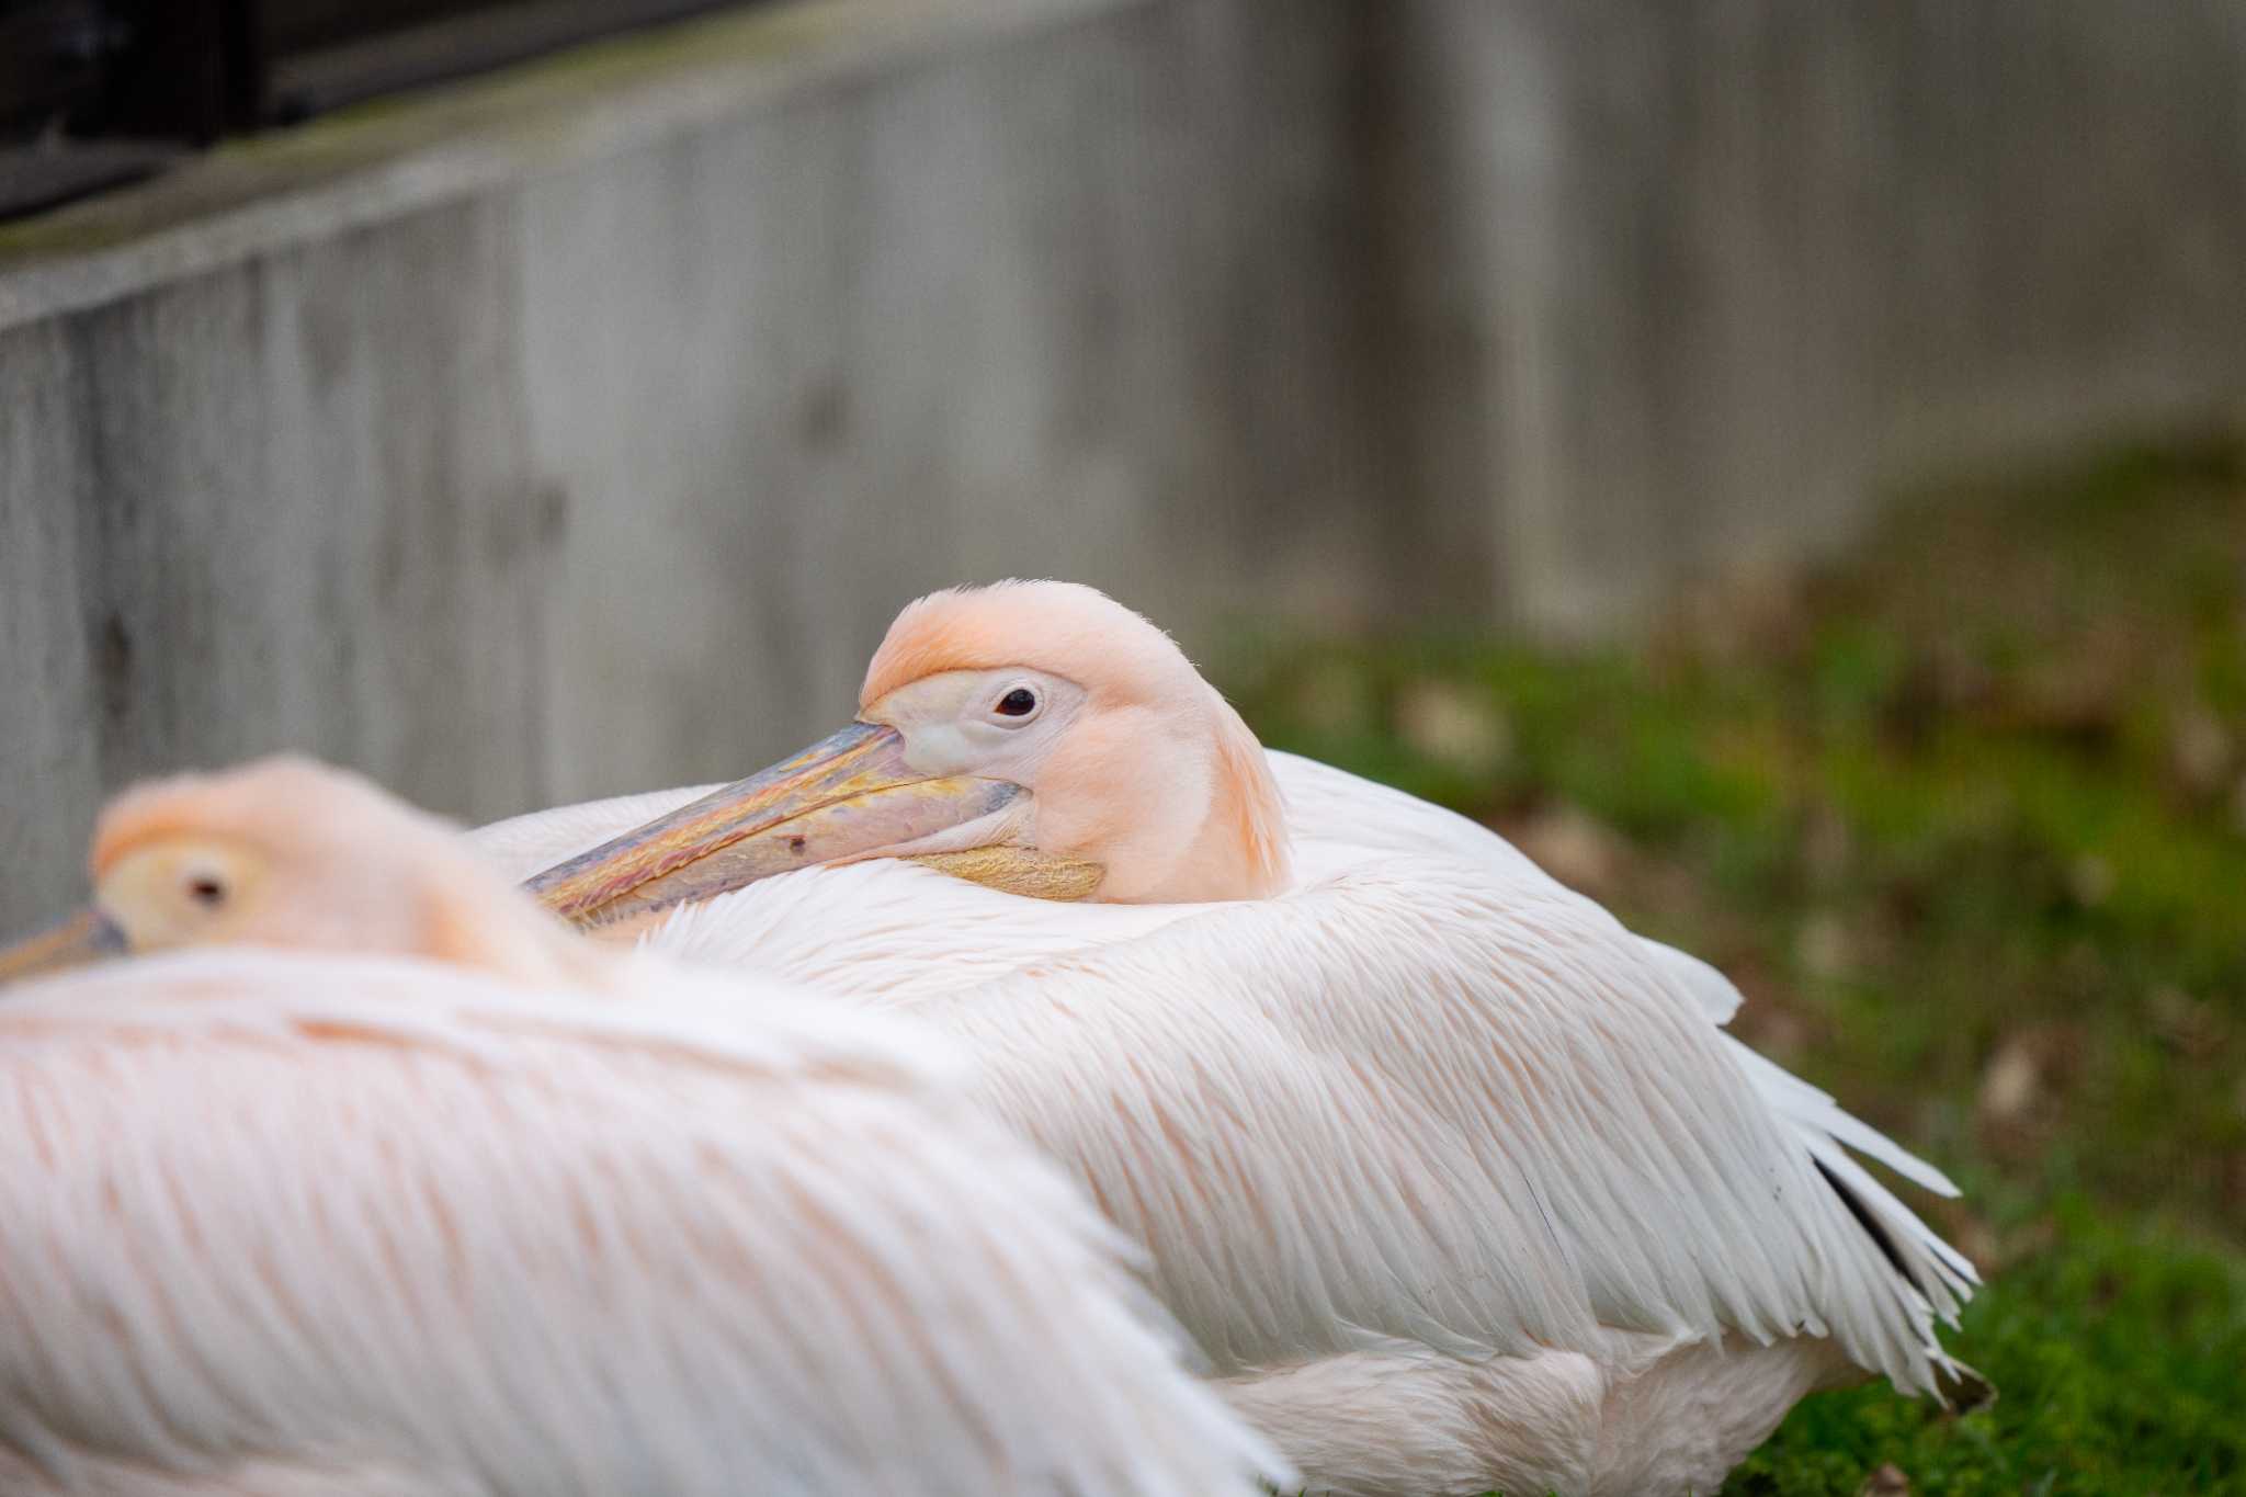
<path id="1" fill-rule="evenodd" d="M 523 889 L 573 925 L 613 925 L 775 873 L 912 848 L 984 819 L 993 821 L 990 835 L 932 846 L 997 842 L 1006 833 L 1002 812 L 1026 795 L 1002 779 L 914 770 L 903 734 L 851 723 L 768 770 L 546 869 Z"/>

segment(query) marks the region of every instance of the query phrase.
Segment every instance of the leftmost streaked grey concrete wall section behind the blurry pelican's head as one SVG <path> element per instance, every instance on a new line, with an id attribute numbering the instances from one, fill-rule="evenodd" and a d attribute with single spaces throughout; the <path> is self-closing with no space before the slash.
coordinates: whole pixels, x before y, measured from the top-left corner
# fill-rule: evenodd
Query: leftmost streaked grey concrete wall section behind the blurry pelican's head
<path id="1" fill-rule="evenodd" d="M 301 747 L 442 806 L 546 788 L 510 240 L 472 202 L 0 332 L 11 922 L 135 777 Z"/>

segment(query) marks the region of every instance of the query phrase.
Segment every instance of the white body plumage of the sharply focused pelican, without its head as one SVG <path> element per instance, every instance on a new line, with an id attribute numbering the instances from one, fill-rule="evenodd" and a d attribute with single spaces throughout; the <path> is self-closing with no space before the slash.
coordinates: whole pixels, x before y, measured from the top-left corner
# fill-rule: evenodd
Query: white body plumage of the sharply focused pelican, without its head
<path id="1" fill-rule="evenodd" d="M 1972 1266 L 1844 1145 L 1954 1187 L 1723 1035 L 1720 972 L 1464 817 L 1271 765 L 1296 864 L 1280 898 L 1042 904 L 867 862 L 721 896 L 647 945 L 964 1041 L 977 1091 L 1152 1250 L 1235 1403 L 1334 1490 L 1413 1490 L 1368 1475 L 1395 1457 L 1460 1472 L 1426 1490 L 1500 1472 L 1682 1493 L 1835 1376 L 1828 1358 L 1907 1392 L 1965 1376 L 1934 1320 Z M 514 824 L 510 848 L 530 871 L 629 824 L 544 842 Z M 1552 1356 L 1595 1374 L 1588 1434 L 1556 1412 L 1579 1383 Z M 1368 1387 L 1460 1434 L 1397 1430 L 1352 1466 L 1336 1441 L 1379 1407 Z"/>

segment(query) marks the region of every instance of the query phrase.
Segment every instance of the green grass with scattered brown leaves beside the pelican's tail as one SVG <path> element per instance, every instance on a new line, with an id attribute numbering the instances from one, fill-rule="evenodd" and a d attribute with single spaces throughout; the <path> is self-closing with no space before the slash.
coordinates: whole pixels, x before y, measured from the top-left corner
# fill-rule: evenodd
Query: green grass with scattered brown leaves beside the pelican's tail
<path id="1" fill-rule="evenodd" d="M 1649 644 L 1244 649 L 1273 747 L 1489 819 L 1723 965 L 1965 1187 L 1945 1416 L 1808 1400 L 1727 1493 L 2246 1493 L 2246 449 L 1925 494 Z"/>

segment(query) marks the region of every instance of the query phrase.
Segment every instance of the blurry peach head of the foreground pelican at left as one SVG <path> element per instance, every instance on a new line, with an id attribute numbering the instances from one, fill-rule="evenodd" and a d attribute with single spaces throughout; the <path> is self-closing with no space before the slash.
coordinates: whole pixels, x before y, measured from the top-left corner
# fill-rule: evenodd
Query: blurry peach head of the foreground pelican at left
<path id="1" fill-rule="evenodd" d="M 0 952 L 0 981 L 204 945 L 424 956 L 519 981 L 588 961 L 449 824 L 308 759 L 135 786 L 101 812 L 90 866 L 88 909 Z"/>

